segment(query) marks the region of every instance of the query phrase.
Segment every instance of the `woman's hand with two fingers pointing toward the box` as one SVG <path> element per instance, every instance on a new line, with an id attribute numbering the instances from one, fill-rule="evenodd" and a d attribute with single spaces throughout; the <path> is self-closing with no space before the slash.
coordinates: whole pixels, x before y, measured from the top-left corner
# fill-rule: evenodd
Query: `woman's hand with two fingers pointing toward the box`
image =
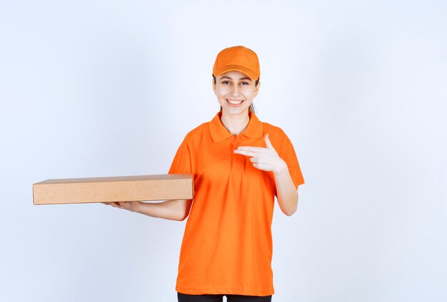
<path id="1" fill-rule="evenodd" d="M 251 157 L 253 167 L 263 171 L 272 171 L 273 173 L 282 172 L 287 169 L 286 162 L 279 157 L 273 145 L 271 145 L 268 134 L 264 137 L 266 148 L 239 146 L 234 153 Z"/>

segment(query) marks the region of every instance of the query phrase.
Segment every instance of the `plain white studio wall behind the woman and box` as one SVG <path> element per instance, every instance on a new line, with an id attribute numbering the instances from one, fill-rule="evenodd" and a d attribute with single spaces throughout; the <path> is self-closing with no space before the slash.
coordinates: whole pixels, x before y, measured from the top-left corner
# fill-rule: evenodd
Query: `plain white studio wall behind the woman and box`
<path id="1" fill-rule="evenodd" d="M 273 301 L 446 301 L 446 1 L 159 2 L 0 1 L 0 301 L 176 301 L 186 221 L 32 184 L 167 173 L 235 45 L 306 180 Z"/>

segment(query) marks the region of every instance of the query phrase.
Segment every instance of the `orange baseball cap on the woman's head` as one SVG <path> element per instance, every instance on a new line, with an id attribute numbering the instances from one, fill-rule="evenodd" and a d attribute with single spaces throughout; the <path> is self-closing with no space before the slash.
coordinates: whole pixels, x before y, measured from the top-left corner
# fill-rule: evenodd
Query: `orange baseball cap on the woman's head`
<path id="1" fill-rule="evenodd" d="M 244 46 L 233 46 L 221 51 L 214 62 L 213 76 L 227 71 L 241 71 L 252 80 L 258 80 L 261 71 L 256 53 Z"/>

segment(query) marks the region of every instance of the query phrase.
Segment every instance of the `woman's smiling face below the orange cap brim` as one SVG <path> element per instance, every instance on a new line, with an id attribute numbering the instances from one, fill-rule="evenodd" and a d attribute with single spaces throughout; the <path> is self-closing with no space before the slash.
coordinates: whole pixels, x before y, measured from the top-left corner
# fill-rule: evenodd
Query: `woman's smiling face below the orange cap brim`
<path id="1" fill-rule="evenodd" d="M 216 76 L 213 90 L 225 113 L 248 114 L 253 98 L 258 95 L 259 85 L 255 86 L 255 81 L 240 71 L 228 71 Z"/>

